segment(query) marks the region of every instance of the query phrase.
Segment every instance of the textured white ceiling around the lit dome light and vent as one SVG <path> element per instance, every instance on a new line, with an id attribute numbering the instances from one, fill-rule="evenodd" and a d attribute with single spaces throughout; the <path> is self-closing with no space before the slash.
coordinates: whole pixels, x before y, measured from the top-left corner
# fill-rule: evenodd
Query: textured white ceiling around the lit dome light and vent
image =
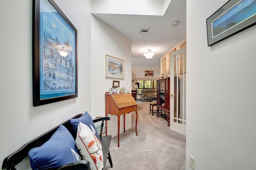
<path id="1" fill-rule="evenodd" d="M 132 40 L 132 67 L 160 67 L 160 57 L 186 38 L 186 0 L 172 0 L 164 16 L 93 15 Z M 179 21 L 178 26 L 172 26 L 176 20 Z M 149 31 L 141 34 L 141 29 Z M 143 53 L 148 49 L 156 53 L 153 59 L 144 57 Z"/>

